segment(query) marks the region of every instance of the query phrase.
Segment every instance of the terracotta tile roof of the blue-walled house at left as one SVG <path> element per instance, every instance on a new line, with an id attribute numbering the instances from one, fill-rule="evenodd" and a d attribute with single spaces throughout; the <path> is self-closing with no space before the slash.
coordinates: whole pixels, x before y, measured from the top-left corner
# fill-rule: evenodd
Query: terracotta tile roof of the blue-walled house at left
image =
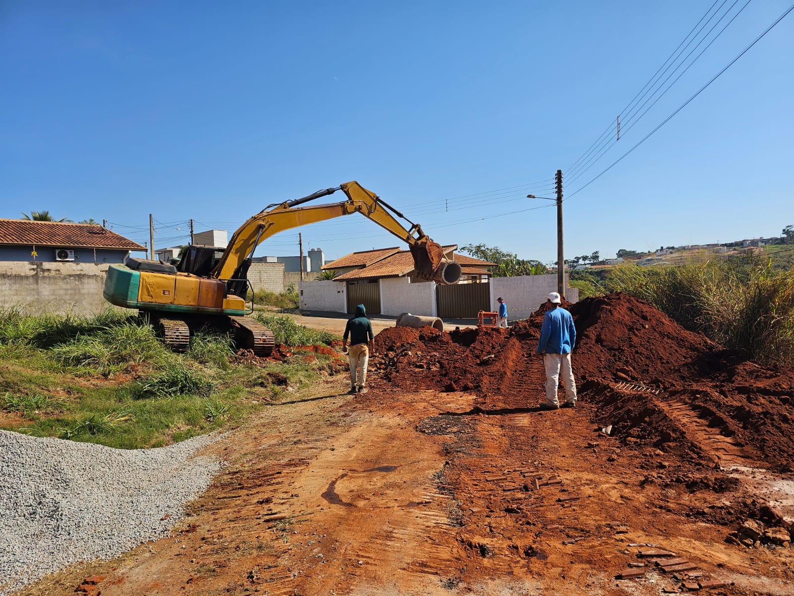
<path id="1" fill-rule="evenodd" d="M 27 219 L 0 219 L 0 245 L 146 250 L 137 242 L 92 223 L 35 222 Z"/>

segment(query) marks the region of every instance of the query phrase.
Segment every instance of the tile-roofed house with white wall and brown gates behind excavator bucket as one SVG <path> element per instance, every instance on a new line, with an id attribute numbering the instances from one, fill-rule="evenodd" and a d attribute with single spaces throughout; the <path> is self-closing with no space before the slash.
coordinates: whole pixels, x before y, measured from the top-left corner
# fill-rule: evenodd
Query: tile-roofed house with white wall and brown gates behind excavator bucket
<path id="1" fill-rule="evenodd" d="M 333 281 L 302 284 L 301 308 L 352 313 L 357 304 L 364 304 L 371 314 L 410 312 L 448 318 L 476 316 L 479 310 L 490 310 L 488 267 L 494 264 L 455 254 L 457 245 L 442 249 L 446 258 L 461 264 L 463 276 L 459 284 L 445 286 L 418 277 L 410 250 L 363 250 L 322 267 L 339 273 Z"/>

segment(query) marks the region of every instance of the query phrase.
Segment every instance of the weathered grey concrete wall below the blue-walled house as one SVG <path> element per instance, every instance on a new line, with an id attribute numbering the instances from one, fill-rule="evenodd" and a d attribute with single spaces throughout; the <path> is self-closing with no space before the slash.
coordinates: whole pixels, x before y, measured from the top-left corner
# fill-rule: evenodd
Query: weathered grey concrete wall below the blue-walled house
<path id="1" fill-rule="evenodd" d="M 108 263 L 4 261 L 0 308 L 21 306 L 31 314 L 95 315 L 113 307 L 102 297 Z"/>

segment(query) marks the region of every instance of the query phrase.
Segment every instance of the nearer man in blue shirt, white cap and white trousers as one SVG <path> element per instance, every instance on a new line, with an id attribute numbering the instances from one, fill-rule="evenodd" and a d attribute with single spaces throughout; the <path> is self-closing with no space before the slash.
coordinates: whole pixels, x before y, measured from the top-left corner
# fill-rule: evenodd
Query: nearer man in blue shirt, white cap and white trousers
<path id="1" fill-rule="evenodd" d="M 538 354 L 543 354 L 546 370 L 546 401 L 541 404 L 544 410 L 560 408 L 557 400 L 557 386 L 562 380 L 565 387 L 563 408 L 576 407 L 576 381 L 571 368 L 571 350 L 576 344 L 576 327 L 573 326 L 571 313 L 561 308 L 560 295 L 551 292 L 547 302 L 551 310 L 543 316 L 541 339 L 538 341 Z M 561 378 L 562 377 L 562 378 Z"/>

